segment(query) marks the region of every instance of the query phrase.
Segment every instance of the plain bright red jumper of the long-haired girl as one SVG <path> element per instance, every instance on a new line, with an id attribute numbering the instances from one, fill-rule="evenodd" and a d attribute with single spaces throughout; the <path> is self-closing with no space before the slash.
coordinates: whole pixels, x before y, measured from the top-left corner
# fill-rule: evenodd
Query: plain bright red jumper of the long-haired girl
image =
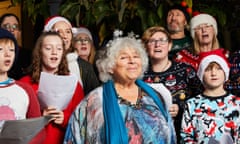
<path id="1" fill-rule="evenodd" d="M 38 83 L 32 83 L 30 76 L 24 76 L 20 79 L 22 82 L 29 83 L 35 92 L 37 93 L 38 90 Z M 69 102 L 68 106 L 63 110 L 64 113 L 64 121 L 61 125 L 55 124 L 50 122 L 45 127 L 46 138 L 43 144 L 62 144 L 64 139 L 65 130 L 68 124 L 69 117 L 71 116 L 72 112 L 76 108 L 76 106 L 80 103 L 80 101 L 84 97 L 83 89 L 80 83 L 77 83 L 74 95 Z"/>

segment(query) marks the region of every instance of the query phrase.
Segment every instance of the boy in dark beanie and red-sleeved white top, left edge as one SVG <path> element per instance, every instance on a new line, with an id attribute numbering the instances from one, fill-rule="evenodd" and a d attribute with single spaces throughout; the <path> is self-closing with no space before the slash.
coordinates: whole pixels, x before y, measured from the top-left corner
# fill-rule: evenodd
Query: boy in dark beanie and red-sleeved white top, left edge
<path id="1" fill-rule="evenodd" d="M 41 116 L 40 106 L 33 89 L 29 85 L 8 77 L 8 71 L 14 64 L 17 51 L 18 46 L 14 36 L 0 28 L 0 129 L 4 120 Z M 33 141 L 32 143 L 36 143 Z"/>

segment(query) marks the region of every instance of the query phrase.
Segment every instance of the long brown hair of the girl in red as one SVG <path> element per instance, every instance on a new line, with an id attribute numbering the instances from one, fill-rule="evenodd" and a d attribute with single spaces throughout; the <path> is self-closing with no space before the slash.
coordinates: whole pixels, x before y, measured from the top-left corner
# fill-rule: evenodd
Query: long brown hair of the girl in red
<path id="1" fill-rule="evenodd" d="M 33 83 L 38 83 L 39 79 L 40 79 L 40 74 L 42 71 L 42 65 L 43 65 L 43 61 L 42 61 L 42 43 L 43 40 L 47 37 L 47 36 L 58 36 L 61 40 L 61 36 L 57 33 L 57 32 L 43 32 L 40 37 L 38 38 L 34 51 L 33 51 L 33 61 L 32 61 L 32 69 L 31 69 L 31 76 L 32 76 L 32 82 Z M 58 75 L 68 75 L 69 74 L 69 69 L 68 69 L 68 63 L 67 63 L 67 59 L 66 59 L 66 50 L 64 49 L 64 42 L 62 40 L 62 44 L 63 44 L 63 56 L 62 56 L 62 60 L 58 66 L 58 71 L 56 72 L 56 74 Z"/>

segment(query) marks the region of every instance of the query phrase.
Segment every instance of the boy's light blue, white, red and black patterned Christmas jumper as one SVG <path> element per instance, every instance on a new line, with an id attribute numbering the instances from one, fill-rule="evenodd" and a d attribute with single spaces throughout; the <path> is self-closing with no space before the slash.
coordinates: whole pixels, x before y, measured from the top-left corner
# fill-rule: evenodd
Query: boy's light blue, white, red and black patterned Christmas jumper
<path id="1" fill-rule="evenodd" d="M 183 114 L 181 137 L 187 144 L 220 143 L 226 137 L 239 144 L 240 98 L 227 93 L 219 97 L 200 94 L 189 99 Z"/>

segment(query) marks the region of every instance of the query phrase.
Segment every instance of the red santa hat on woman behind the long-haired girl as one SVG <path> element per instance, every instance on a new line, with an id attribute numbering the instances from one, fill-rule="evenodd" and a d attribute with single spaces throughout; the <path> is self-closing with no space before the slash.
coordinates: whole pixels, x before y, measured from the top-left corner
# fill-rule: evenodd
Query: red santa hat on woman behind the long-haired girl
<path id="1" fill-rule="evenodd" d="M 44 30 L 43 31 L 50 31 L 50 30 L 52 30 L 53 25 L 55 23 L 57 23 L 57 22 L 60 22 L 60 21 L 66 22 L 72 28 L 72 24 L 65 17 L 62 17 L 62 16 L 52 16 L 52 17 L 49 17 L 45 21 L 45 25 L 44 25 Z"/>

